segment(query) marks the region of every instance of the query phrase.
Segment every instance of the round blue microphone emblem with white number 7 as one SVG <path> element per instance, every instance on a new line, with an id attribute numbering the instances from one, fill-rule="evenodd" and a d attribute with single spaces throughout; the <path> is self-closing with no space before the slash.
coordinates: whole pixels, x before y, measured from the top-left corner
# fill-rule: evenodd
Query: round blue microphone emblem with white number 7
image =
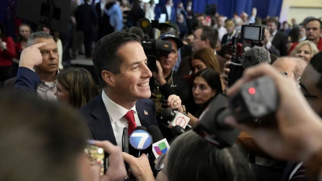
<path id="1" fill-rule="evenodd" d="M 144 130 L 135 130 L 130 135 L 130 144 L 135 149 L 147 149 L 152 144 L 151 135 Z"/>

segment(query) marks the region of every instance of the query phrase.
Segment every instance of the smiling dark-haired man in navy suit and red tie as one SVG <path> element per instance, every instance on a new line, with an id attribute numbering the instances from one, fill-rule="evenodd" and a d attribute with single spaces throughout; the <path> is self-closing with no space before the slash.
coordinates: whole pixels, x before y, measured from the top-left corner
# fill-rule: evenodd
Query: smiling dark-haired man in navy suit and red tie
<path id="1" fill-rule="evenodd" d="M 113 32 L 103 37 L 93 63 L 103 91 L 80 111 L 95 140 L 122 146 L 124 127 L 130 134 L 136 126 L 157 125 L 155 104 L 148 99 L 152 73 L 137 35 Z"/>

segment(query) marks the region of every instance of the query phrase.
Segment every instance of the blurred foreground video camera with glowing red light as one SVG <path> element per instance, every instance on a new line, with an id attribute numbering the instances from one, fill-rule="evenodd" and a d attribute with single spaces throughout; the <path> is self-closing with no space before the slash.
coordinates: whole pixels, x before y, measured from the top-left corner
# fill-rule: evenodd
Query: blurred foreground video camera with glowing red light
<path id="1" fill-rule="evenodd" d="M 244 84 L 230 99 L 222 94 L 216 95 L 199 117 L 200 122 L 192 129 L 222 149 L 235 143 L 240 133 L 225 123 L 227 116 L 233 115 L 239 123 L 271 124 L 272 122 L 265 122 L 262 118 L 274 114 L 278 105 L 279 95 L 272 78 L 260 77 Z M 258 121 L 259 118 L 262 119 L 261 122 Z"/>

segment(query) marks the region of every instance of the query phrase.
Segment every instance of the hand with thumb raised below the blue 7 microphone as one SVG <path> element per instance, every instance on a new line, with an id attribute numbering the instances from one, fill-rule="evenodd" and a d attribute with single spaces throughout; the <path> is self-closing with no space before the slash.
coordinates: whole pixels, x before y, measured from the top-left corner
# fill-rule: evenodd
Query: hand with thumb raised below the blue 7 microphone
<path id="1" fill-rule="evenodd" d="M 146 154 L 142 154 L 139 158 L 135 158 L 125 152 L 122 154 L 124 161 L 128 163 L 132 174 L 138 181 L 154 181 L 154 176 Z"/>

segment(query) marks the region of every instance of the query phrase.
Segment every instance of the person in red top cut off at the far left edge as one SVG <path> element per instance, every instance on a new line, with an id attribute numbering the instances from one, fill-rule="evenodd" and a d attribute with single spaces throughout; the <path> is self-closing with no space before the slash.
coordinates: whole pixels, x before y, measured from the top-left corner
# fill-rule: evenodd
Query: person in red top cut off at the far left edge
<path id="1" fill-rule="evenodd" d="M 14 77 L 12 59 L 16 57 L 14 40 L 7 37 L 4 27 L 0 24 L 0 85 L 6 79 Z"/>

